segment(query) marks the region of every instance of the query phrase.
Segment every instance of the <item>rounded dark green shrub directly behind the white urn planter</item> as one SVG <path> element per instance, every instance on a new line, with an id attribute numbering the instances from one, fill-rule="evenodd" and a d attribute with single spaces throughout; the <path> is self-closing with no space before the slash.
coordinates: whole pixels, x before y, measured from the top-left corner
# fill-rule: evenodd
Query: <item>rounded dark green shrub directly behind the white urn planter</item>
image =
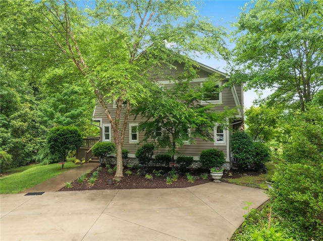
<path id="1" fill-rule="evenodd" d="M 226 162 L 226 158 L 223 151 L 211 148 L 201 152 L 200 162 L 206 169 L 220 168 Z"/>

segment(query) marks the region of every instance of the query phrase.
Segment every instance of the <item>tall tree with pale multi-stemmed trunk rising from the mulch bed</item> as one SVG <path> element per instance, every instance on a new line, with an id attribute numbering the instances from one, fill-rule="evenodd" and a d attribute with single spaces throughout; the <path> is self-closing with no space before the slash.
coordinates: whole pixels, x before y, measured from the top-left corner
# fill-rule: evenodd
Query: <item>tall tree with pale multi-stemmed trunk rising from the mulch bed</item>
<path id="1" fill-rule="evenodd" d="M 87 10 L 87 15 L 70 1 L 22 2 L 19 7 L 24 14 L 18 12 L 15 16 L 20 18 L 18 28 L 38 37 L 32 43 L 25 38 L 27 43 L 23 44 L 31 47 L 41 43 L 56 52 L 40 56 L 41 60 L 48 56 L 56 62 L 72 61 L 93 87 L 113 129 L 115 178 L 123 177 L 122 145 L 130 106 L 150 96 L 147 85 L 158 73 L 154 69 L 160 69 L 161 64 L 175 68 L 175 60 L 187 61 L 185 56 L 194 54 L 227 56 L 224 31 L 199 18 L 188 1 L 99 1 L 93 11 Z M 10 4 L 17 9 L 13 2 Z M 10 32 L 15 29 L 10 28 Z M 107 108 L 113 101 L 117 107 L 115 118 Z"/>

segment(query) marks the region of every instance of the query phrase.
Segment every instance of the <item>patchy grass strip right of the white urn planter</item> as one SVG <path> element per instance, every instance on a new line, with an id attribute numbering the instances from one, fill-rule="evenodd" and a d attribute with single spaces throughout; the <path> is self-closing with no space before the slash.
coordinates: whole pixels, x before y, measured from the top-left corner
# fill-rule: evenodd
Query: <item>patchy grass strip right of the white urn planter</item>
<path id="1" fill-rule="evenodd" d="M 266 163 L 266 169 L 268 170 L 265 174 L 258 176 L 243 176 L 236 179 L 228 179 L 229 183 L 237 184 L 241 186 L 248 186 L 253 188 L 267 189 L 266 180 L 270 179 L 274 175 L 275 164 L 272 162 Z"/>

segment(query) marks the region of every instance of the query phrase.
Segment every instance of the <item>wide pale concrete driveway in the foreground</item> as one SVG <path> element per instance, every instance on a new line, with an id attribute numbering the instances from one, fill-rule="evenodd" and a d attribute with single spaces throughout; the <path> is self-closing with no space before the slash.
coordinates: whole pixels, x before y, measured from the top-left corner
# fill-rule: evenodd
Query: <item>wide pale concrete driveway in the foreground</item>
<path id="1" fill-rule="evenodd" d="M 1 197 L 2 241 L 225 241 L 256 208 L 263 190 L 227 183 L 180 189 L 45 192 Z"/>

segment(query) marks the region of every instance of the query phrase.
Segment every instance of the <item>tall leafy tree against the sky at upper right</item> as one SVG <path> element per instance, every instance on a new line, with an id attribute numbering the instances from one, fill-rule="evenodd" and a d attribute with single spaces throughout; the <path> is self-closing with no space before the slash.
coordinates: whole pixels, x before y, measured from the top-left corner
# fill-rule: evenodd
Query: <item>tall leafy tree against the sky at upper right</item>
<path id="1" fill-rule="evenodd" d="M 235 24 L 232 79 L 247 82 L 249 89 L 274 89 L 272 105 L 306 111 L 323 85 L 322 5 L 322 0 L 247 4 Z"/>

